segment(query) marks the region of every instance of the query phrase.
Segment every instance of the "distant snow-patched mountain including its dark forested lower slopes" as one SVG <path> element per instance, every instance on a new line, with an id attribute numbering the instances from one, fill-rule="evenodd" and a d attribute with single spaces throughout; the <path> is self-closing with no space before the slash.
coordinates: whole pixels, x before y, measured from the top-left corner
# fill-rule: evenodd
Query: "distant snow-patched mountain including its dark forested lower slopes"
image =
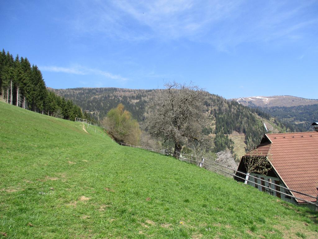
<path id="1" fill-rule="evenodd" d="M 254 96 L 230 99 L 241 105 L 258 108 L 282 121 L 294 132 L 311 131 L 318 121 L 318 100 L 295 96 Z"/>

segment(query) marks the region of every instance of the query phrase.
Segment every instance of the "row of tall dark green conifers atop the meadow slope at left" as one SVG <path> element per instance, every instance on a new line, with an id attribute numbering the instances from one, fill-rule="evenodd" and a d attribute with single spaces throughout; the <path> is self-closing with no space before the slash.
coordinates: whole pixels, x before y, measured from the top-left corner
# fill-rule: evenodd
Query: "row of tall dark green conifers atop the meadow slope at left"
<path id="1" fill-rule="evenodd" d="M 50 116 L 74 120 L 88 118 L 72 101 L 48 91 L 41 71 L 27 58 L 13 58 L 12 54 L 0 52 L 0 97 L 11 105 Z"/>

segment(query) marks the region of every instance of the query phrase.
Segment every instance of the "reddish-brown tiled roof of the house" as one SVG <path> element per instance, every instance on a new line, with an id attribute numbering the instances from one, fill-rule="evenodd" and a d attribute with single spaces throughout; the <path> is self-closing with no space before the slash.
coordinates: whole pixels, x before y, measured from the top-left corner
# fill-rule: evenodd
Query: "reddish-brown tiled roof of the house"
<path id="1" fill-rule="evenodd" d="M 318 132 L 266 134 L 254 154 L 266 155 L 288 188 L 316 196 L 318 191 Z M 247 154 L 249 155 L 249 154 Z M 316 199 L 292 192 L 295 197 Z M 297 202 L 303 202 L 297 200 Z"/>

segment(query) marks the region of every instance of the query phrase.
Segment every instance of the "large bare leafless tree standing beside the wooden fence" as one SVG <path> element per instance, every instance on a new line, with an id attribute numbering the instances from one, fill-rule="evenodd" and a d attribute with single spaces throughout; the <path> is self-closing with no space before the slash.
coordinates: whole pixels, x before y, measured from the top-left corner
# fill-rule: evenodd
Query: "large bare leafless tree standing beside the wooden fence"
<path id="1" fill-rule="evenodd" d="M 207 126 L 204 102 L 207 92 L 195 85 L 166 83 L 166 89 L 158 91 L 147 105 L 148 117 L 144 128 L 164 141 L 174 142 L 174 156 L 179 157 L 183 145 L 196 141 L 204 146 Z"/>

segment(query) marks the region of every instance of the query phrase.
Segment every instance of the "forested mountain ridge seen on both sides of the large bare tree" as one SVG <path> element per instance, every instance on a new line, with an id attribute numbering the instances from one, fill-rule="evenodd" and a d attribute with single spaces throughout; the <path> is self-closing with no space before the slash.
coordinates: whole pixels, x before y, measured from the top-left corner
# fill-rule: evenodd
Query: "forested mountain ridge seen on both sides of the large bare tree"
<path id="1" fill-rule="evenodd" d="M 120 88 L 73 88 L 73 89 L 52 89 L 56 94 L 73 100 L 83 111 L 90 112 L 93 117 L 101 120 L 107 112 L 116 107 L 119 103 L 132 113 L 139 122 L 147 117 L 145 104 L 157 90 L 134 90 Z M 211 127 L 205 129 L 205 134 L 214 134 L 214 151 L 218 152 L 225 148 L 233 150 L 234 143 L 231 140 L 232 133 L 238 132 L 245 135 L 245 143 L 250 140 L 256 144 L 263 136 L 262 121 L 268 127 L 274 127 L 274 132 L 286 132 L 289 129 L 278 120 L 273 119 L 269 114 L 258 109 L 250 109 L 235 101 L 228 101 L 225 98 L 209 94 L 205 102 L 206 112 L 209 114 Z"/>

